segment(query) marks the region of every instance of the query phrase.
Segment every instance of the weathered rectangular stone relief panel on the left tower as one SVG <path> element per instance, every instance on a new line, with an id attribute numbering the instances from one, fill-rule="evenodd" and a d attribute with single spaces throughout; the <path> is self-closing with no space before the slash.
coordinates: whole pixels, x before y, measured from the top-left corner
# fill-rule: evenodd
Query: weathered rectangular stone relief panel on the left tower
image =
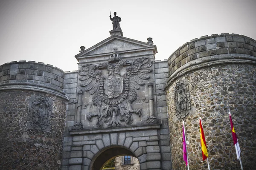
<path id="1" fill-rule="evenodd" d="M 27 127 L 49 131 L 51 113 L 51 98 L 42 95 L 32 95 L 29 102 L 29 122 Z"/>

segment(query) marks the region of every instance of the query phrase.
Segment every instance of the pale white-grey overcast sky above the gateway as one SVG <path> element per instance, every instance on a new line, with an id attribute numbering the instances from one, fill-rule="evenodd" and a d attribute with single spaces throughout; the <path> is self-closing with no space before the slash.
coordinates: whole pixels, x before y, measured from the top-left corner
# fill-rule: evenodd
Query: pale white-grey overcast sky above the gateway
<path id="1" fill-rule="evenodd" d="M 74 55 L 110 37 L 114 11 L 124 37 L 157 45 L 156 59 L 204 35 L 256 39 L 256 0 L 0 0 L 0 65 L 19 60 L 77 70 Z"/>

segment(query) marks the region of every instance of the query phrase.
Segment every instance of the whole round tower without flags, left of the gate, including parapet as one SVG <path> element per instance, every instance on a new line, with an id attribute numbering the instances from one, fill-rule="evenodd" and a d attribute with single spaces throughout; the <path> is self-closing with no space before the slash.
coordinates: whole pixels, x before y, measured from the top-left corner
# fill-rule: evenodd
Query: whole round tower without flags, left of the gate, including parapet
<path id="1" fill-rule="evenodd" d="M 60 169 L 67 107 L 64 72 L 42 62 L 0 66 L 0 167 Z"/>

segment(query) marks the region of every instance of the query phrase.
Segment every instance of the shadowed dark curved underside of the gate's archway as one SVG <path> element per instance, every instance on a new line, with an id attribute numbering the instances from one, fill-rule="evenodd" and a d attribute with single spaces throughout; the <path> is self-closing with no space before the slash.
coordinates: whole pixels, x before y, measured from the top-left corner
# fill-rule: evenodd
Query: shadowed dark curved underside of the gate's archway
<path id="1" fill-rule="evenodd" d="M 94 157 L 94 159 L 91 161 L 89 169 L 101 170 L 105 162 L 117 156 L 123 156 L 123 155 L 136 157 L 134 153 L 132 153 L 130 150 L 124 147 L 113 146 L 113 147 L 105 148 Z"/>

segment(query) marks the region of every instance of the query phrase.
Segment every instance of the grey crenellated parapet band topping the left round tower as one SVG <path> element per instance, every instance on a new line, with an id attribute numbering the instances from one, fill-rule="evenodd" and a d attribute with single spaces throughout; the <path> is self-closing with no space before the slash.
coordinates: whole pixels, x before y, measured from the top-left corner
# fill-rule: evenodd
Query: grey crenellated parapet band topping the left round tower
<path id="1" fill-rule="evenodd" d="M 64 75 L 61 69 L 43 62 L 13 61 L 0 66 L 0 91 L 38 91 L 67 99 Z"/>

